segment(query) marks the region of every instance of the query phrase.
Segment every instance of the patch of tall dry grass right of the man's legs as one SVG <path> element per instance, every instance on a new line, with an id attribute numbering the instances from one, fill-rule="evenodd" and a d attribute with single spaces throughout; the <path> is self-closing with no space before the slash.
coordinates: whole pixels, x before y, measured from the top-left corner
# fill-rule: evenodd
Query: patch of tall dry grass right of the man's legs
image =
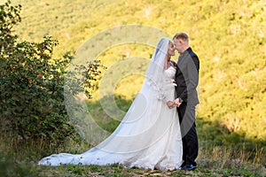
<path id="1" fill-rule="evenodd" d="M 239 150 L 212 145 L 200 147 L 198 164 L 202 169 L 231 171 L 234 175 L 266 175 L 266 156 L 263 147 L 255 148 L 253 151 L 246 150 L 245 145 Z"/>

